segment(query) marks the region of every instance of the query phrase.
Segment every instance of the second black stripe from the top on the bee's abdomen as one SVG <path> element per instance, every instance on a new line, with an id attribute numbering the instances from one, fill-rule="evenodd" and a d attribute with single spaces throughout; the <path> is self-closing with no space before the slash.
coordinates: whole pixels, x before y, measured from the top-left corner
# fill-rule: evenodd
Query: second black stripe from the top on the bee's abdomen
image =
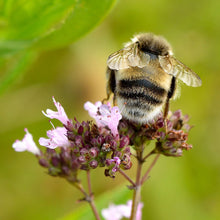
<path id="1" fill-rule="evenodd" d="M 138 99 L 139 101 L 145 101 L 147 103 L 150 103 L 152 105 L 159 105 L 162 103 L 162 100 L 158 100 L 152 96 L 149 96 L 147 94 L 145 94 L 144 92 L 142 93 L 133 93 L 132 91 L 130 92 L 122 92 L 120 91 L 118 93 L 119 96 L 121 96 L 124 99 L 132 99 L 132 100 L 136 100 Z"/>

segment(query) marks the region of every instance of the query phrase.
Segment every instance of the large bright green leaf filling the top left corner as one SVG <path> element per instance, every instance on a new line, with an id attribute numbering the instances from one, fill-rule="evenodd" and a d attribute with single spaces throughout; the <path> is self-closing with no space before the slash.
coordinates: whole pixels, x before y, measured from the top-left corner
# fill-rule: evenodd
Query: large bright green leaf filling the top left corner
<path id="1" fill-rule="evenodd" d="M 0 55 L 66 46 L 90 31 L 116 0 L 0 0 Z"/>

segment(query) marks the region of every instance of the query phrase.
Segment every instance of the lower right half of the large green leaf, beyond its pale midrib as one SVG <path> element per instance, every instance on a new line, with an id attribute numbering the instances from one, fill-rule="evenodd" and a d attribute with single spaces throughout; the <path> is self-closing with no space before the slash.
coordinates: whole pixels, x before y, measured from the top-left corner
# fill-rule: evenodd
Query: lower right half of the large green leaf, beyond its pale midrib
<path id="1" fill-rule="evenodd" d="M 116 0 L 81 0 L 68 16 L 51 32 L 39 40 L 34 48 L 57 48 L 70 44 L 89 32 L 110 10 Z"/>

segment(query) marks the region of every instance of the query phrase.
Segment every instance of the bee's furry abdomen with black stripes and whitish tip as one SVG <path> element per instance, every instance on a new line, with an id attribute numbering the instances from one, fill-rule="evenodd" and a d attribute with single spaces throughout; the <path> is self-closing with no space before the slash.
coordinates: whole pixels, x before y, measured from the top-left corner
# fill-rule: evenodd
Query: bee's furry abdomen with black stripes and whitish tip
<path id="1" fill-rule="evenodd" d="M 122 79 L 116 86 L 116 100 L 123 117 L 147 123 L 162 110 L 167 91 L 147 78 Z"/>

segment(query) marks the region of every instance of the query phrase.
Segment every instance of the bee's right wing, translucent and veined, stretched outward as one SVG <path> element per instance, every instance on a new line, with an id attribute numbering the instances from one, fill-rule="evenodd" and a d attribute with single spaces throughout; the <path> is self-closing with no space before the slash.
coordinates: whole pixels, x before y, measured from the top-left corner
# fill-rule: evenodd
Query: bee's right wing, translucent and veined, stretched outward
<path id="1" fill-rule="evenodd" d="M 165 72 L 175 76 L 188 86 L 202 85 L 200 77 L 175 57 L 159 56 L 159 62 Z"/>

